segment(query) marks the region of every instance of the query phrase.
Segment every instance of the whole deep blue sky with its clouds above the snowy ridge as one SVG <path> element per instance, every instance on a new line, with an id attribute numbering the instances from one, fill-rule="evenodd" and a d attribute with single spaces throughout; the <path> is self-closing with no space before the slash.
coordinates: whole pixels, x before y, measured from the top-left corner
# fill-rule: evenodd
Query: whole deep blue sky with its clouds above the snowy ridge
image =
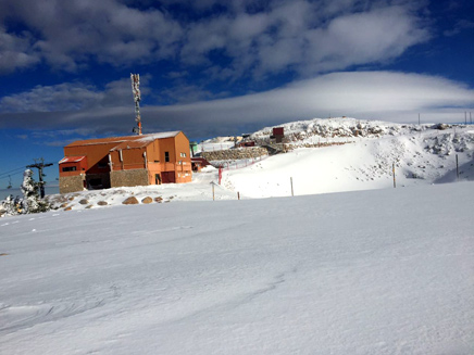
<path id="1" fill-rule="evenodd" d="M 2 0 L 0 188 L 77 139 L 474 113 L 471 0 Z M 49 180 L 58 166 L 46 170 Z"/>

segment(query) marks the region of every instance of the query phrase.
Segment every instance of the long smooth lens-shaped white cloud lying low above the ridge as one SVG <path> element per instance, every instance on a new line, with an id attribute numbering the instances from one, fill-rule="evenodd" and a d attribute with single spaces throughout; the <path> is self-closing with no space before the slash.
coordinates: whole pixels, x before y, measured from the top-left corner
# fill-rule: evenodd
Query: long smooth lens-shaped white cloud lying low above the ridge
<path id="1" fill-rule="evenodd" d="M 93 110 L 2 113 L 0 128 L 129 134 L 135 124 L 133 105 L 105 105 L 101 100 Z M 423 122 L 453 123 L 463 121 L 465 110 L 474 110 L 474 89 L 456 81 L 394 72 L 342 72 L 237 98 L 144 106 L 142 124 L 145 132 L 180 129 L 194 138 L 329 115 L 415 123 L 421 113 Z"/>

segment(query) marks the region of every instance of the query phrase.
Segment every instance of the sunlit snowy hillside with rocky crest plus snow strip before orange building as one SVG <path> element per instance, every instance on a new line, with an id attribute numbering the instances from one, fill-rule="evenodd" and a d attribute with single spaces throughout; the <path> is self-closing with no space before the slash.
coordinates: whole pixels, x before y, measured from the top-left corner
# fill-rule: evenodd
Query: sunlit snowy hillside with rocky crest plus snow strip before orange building
<path id="1" fill-rule="evenodd" d="M 474 127 L 400 125 L 354 118 L 302 121 L 283 125 L 290 151 L 262 161 L 236 162 L 214 187 L 215 200 L 320 194 L 474 180 Z M 271 127 L 251 135 L 270 137 Z M 334 143 L 344 143 L 341 145 Z M 201 142 L 198 150 L 230 149 L 233 137 Z M 458 156 L 459 177 L 456 169 Z M 253 164 L 252 164 L 253 163 Z M 235 169 L 239 165 L 240 168 Z M 246 166 L 247 165 L 247 166 Z M 246 167 L 245 167 L 246 166 Z M 140 203 L 210 201 L 212 167 L 194 174 L 191 183 L 162 185 L 53 195 L 57 208 L 101 208 L 122 204 L 128 196 Z"/>

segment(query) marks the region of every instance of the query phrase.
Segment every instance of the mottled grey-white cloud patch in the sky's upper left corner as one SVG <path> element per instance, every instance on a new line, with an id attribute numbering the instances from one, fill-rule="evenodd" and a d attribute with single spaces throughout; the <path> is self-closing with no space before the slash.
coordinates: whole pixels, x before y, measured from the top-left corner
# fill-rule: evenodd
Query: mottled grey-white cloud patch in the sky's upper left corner
<path id="1" fill-rule="evenodd" d="M 183 28 L 159 10 L 139 11 L 115 0 L 5 1 L 11 18 L 39 34 L 34 49 L 66 71 L 91 60 L 115 65 L 175 55 Z"/>

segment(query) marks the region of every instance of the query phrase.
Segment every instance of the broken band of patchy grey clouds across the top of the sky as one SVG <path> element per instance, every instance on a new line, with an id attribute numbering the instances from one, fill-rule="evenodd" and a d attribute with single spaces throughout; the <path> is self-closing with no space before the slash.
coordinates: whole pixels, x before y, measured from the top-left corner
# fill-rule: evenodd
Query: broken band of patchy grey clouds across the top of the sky
<path id="1" fill-rule="evenodd" d="M 4 0 L 0 71 L 40 62 L 79 71 L 92 62 L 129 66 L 174 60 L 205 67 L 219 79 L 285 71 L 304 77 L 391 60 L 426 41 L 423 2 L 416 3 Z M 186 16 L 184 9 L 191 8 L 197 14 Z"/>

